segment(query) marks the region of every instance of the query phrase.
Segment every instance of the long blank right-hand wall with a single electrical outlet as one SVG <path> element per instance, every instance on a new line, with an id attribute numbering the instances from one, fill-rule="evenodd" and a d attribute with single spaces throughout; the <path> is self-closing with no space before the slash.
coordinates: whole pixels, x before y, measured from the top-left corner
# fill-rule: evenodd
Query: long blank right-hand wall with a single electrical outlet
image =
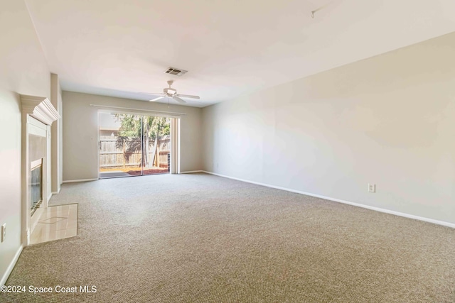
<path id="1" fill-rule="evenodd" d="M 454 53 L 451 33 L 205 107 L 204 169 L 454 224 Z"/>

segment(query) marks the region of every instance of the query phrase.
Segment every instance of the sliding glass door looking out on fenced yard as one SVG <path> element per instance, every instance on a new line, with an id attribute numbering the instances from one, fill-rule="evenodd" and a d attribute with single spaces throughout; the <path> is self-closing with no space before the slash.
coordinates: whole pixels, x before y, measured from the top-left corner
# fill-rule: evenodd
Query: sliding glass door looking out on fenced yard
<path id="1" fill-rule="evenodd" d="M 170 119 L 100 112 L 100 178 L 169 172 Z"/>

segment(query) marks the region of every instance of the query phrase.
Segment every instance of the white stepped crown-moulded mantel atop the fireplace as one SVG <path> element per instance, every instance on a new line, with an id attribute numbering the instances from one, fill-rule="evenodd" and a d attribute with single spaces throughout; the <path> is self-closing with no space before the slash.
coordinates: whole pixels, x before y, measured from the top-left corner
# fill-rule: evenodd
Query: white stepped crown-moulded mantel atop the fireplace
<path id="1" fill-rule="evenodd" d="M 22 113 L 50 125 L 60 119 L 60 115 L 48 98 L 21 94 Z"/>

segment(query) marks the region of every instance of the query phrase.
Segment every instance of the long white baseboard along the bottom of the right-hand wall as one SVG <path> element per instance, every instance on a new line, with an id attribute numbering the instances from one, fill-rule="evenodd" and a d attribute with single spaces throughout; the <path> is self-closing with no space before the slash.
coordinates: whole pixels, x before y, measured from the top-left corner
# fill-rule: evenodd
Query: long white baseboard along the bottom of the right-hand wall
<path id="1" fill-rule="evenodd" d="M 368 205 L 365 205 L 365 204 L 349 202 L 349 201 L 342 200 L 342 199 L 336 199 L 336 198 L 322 196 L 320 194 L 311 194 L 310 192 L 301 192 L 299 190 L 289 189 L 289 188 L 286 188 L 286 187 L 279 187 L 279 186 L 274 186 L 274 185 L 270 185 L 270 184 L 254 182 L 254 181 L 250 181 L 250 180 L 244 180 L 244 179 L 240 179 L 240 178 L 236 178 L 236 177 L 220 175 L 220 174 L 217 174 L 215 172 L 207 172 L 205 170 L 203 170 L 202 172 L 205 172 L 205 173 L 210 174 L 210 175 L 215 175 L 215 176 L 218 176 L 218 177 L 225 177 L 225 178 L 228 178 L 228 179 L 242 181 L 242 182 L 247 182 L 247 183 L 252 183 L 252 184 L 257 184 L 257 185 L 261 185 L 261 186 L 265 186 L 265 187 L 272 187 L 272 188 L 275 188 L 275 189 L 282 189 L 282 190 L 285 190 L 287 192 L 295 192 L 296 194 L 305 194 L 306 196 L 326 199 L 326 200 L 329 200 L 329 201 L 339 202 L 339 203 L 343 203 L 343 204 L 349 204 L 349 205 L 352 205 L 352 206 L 358 206 L 358 207 L 362 207 L 364 209 L 371 209 L 373 211 L 380 211 L 380 212 L 383 212 L 385 214 L 394 214 L 395 216 L 403 216 L 405 218 L 416 219 L 416 220 L 419 220 L 419 221 L 425 221 L 425 222 L 429 222 L 429 223 L 432 223 L 432 224 L 438 224 L 438 225 L 442 225 L 442 226 L 455 228 L 455 224 L 454 223 L 449 223 L 449 222 L 446 222 L 446 221 L 439 221 L 439 220 L 429 219 L 429 218 L 425 218 L 423 216 L 414 216 L 413 214 L 405 214 L 405 213 L 402 213 L 400 211 L 391 211 L 390 209 L 382 209 L 380 207 L 368 206 Z"/>

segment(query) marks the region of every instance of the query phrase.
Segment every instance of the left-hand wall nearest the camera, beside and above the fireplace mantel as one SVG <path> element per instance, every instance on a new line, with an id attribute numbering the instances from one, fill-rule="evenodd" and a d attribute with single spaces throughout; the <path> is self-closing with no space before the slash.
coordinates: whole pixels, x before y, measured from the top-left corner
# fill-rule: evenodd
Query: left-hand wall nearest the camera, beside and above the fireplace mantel
<path id="1" fill-rule="evenodd" d="M 0 9 L 0 279 L 21 246 L 21 102 L 19 94 L 50 97 L 50 71 L 23 1 Z M 1 284 L 1 283 L 0 283 Z"/>

